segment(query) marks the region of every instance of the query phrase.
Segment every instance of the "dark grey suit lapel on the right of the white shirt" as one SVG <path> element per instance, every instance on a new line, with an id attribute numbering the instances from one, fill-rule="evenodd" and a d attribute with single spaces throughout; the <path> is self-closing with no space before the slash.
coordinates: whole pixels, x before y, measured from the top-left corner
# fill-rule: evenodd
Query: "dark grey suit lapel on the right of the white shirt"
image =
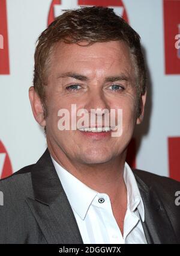
<path id="1" fill-rule="evenodd" d="M 148 243 L 178 243 L 169 217 L 154 187 L 148 187 L 134 172 L 145 207 L 145 222 L 142 222 Z M 169 236 L 170 234 L 170 236 Z"/>

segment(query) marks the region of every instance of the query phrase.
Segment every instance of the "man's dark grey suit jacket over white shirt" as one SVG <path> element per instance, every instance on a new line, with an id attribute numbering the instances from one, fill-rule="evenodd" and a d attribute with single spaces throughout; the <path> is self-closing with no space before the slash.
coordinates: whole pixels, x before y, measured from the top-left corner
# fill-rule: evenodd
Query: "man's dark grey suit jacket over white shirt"
<path id="1" fill-rule="evenodd" d="M 134 170 L 145 205 L 148 243 L 180 243 L 180 183 Z M 0 181 L 0 243 L 83 243 L 48 149 L 36 164 Z"/>

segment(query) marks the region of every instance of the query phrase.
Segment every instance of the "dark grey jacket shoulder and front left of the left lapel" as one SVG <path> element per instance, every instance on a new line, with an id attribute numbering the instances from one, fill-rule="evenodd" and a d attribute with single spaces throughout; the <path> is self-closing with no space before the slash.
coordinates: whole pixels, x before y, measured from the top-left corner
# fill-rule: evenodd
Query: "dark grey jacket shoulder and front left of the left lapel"
<path id="1" fill-rule="evenodd" d="M 34 215 L 26 203 L 34 198 L 31 172 L 34 164 L 0 180 L 0 244 L 45 243 Z"/>

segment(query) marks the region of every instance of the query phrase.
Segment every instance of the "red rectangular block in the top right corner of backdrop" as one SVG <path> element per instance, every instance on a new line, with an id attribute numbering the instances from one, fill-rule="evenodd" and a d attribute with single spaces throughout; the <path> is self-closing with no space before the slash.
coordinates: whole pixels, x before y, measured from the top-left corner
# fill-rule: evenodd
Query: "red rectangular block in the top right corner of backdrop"
<path id="1" fill-rule="evenodd" d="M 177 40 L 179 38 L 180 1 L 164 0 L 164 48 L 166 74 L 180 74 L 180 49 L 176 47 L 178 45 Z"/>

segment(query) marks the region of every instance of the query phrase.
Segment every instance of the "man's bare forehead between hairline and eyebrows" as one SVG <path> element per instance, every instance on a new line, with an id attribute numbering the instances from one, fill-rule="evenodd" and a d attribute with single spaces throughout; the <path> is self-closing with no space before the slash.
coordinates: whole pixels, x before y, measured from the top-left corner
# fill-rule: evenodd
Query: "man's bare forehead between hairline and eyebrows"
<path id="1" fill-rule="evenodd" d="M 124 72 L 129 75 L 133 72 L 133 63 L 130 48 L 123 41 L 96 42 L 86 46 L 86 42 L 76 43 L 59 42 L 56 44 L 50 57 L 53 73 L 82 72 L 103 73 Z M 113 75 L 113 73 L 112 73 Z"/>

